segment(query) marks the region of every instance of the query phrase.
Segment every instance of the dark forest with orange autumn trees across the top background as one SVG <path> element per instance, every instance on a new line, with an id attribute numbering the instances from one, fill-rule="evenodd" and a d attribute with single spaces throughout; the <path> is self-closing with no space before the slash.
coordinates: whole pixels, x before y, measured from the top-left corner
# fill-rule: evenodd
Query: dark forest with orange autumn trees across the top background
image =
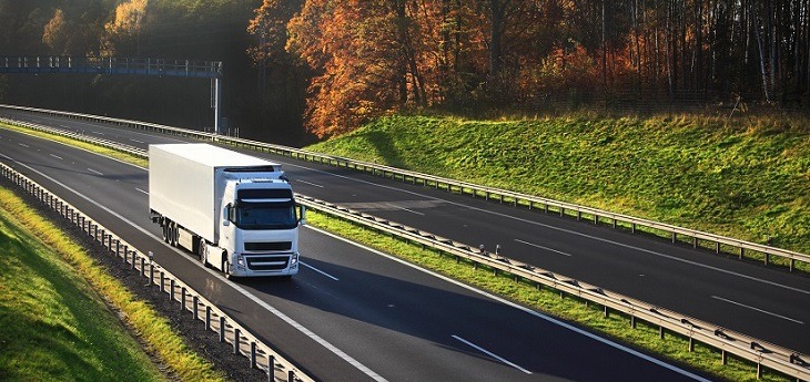
<path id="1" fill-rule="evenodd" d="M 222 61 L 300 144 L 383 115 L 810 110 L 810 0 L 0 0 L 0 55 Z M 210 126 L 210 84 L 0 78 L 0 101 Z"/>

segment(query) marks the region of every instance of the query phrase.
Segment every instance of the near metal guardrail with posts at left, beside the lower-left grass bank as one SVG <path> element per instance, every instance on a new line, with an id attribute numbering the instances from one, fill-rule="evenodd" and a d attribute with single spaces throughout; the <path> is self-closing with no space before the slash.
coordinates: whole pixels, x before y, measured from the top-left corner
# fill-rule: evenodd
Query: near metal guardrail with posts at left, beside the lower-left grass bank
<path id="1" fill-rule="evenodd" d="M 165 292 L 171 301 L 180 302 L 180 309 L 190 311 L 194 321 L 203 321 L 206 329 L 219 333 L 220 342 L 230 343 L 234 354 L 246 357 L 250 364 L 245 366 L 262 370 L 267 374 L 269 381 L 314 382 L 311 376 L 259 340 L 214 303 L 154 262 L 150 256 L 136 250 L 134 246 L 93 221 L 71 204 L 3 163 L 0 163 L 0 175 L 78 226 L 104 247 L 110 256 L 120 257 L 132 271 L 138 271 L 150 285 L 155 285 L 161 292 Z"/>

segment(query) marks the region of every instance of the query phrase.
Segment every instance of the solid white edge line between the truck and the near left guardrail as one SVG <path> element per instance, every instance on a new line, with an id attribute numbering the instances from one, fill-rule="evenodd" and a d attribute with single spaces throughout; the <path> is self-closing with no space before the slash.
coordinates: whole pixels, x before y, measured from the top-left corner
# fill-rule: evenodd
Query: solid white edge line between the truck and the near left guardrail
<path id="1" fill-rule="evenodd" d="M 138 230 L 139 230 L 139 231 L 141 231 L 142 234 L 144 234 L 144 235 L 146 235 L 146 236 L 150 236 L 150 237 L 152 237 L 153 239 L 155 239 L 155 240 L 158 240 L 158 241 L 161 241 L 161 244 L 162 244 L 162 245 L 164 245 L 164 246 L 165 246 L 166 248 L 169 248 L 169 249 L 171 249 L 171 250 L 173 250 L 173 251 L 175 251 L 175 252 L 178 252 L 178 254 L 183 254 L 183 252 L 182 252 L 182 251 L 181 251 L 180 249 L 178 249 L 178 248 L 174 248 L 174 247 L 170 247 L 170 246 L 169 246 L 168 244 L 165 244 L 165 242 L 162 242 L 162 241 L 163 241 L 163 238 L 161 238 L 161 237 L 158 237 L 158 235 L 154 235 L 154 234 L 152 234 L 152 233 L 148 231 L 148 230 L 146 230 L 146 229 L 144 229 L 143 227 L 141 227 L 141 226 L 139 226 L 139 225 L 136 225 L 136 224 L 132 223 L 132 221 L 131 221 L 130 219 L 128 219 L 128 218 L 125 218 L 125 217 L 123 217 L 123 216 L 119 215 L 118 213 L 113 211 L 112 209 L 108 208 L 107 206 L 103 206 L 103 205 L 101 205 L 100 203 L 98 203 L 98 202 L 95 202 L 95 200 L 91 199 L 90 197 L 88 197 L 88 196 L 84 196 L 83 194 L 81 194 L 81 193 L 77 192 L 75 189 L 73 189 L 73 188 L 71 188 L 71 187 L 68 187 L 68 186 L 67 186 L 65 184 L 63 184 L 63 183 L 61 183 L 61 182 L 59 182 L 59 180 L 57 180 L 57 179 L 54 179 L 54 178 L 52 178 L 52 177 L 50 177 L 50 176 L 45 175 L 44 173 L 42 173 L 42 172 L 40 172 L 40 171 L 38 171 L 38 169 L 36 169 L 36 168 L 33 168 L 33 167 L 31 167 L 31 166 L 29 166 L 29 165 L 24 164 L 24 163 L 20 163 L 20 162 L 16 161 L 16 159 L 13 159 L 13 158 L 11 158 L 11 157 L 9 157 L 9 156 L 6 156 L 6 155 L 3 155 L 3 154 L 0 154 L 0 156 L 4 157 L 6 159 L 8 159 L 8 161 L 11 161 L 11 162 L 13 162 L 13 163 L 16 163 L 16 164 L 18 164 L 18 165 L 20 165 L 20 166 L 22 166 L 22 167 L 26 167 L 26 168 L 28 168 L 28 169 L 30 169 L 30 171 L 32 171 L 32 172 L 37 173 L 37 174 L 39 174 L 40 176 L 44 177 L 44 178 L 45 178 L 45 179 L 48 179 L 48 180 L 51 180 L 51 182 L 53 182 L 53 183 L 58 184 L 58 185 L 59 185 L 60 187 L 62 187 L 62 188 L 64 188 L 64 189 L 67 189 L 67 190 L 69 190 L 69 192 L 71 192 L 71 193 L 75 194 L 75 195 L 77 195 L 77 196 L 79 196 L 80 198 L 82 198 L 82 199 L 84 199 L 84 200 L 88 200 L 89 203 L 93 204 L 94 206 L 97 206 L 97 207 L 99 207 L 99 208 L 101 208 L 101 209 L 105 210 L 105 211 L 107 211 L 108 214 L 110 214 L 110 215 L 112 215 L 112 216 L 114 216 L 114 217 L 117 217 L 117 218 L 121 219 L 121 221 L 123 221 L 123 223 L 125 223 L 125 224 L 130 225 L 130 226 L 131 226 L 132 228 L 134 228 L 134 229 L 138 229 Z M 126 164 L 125 162 L 122 162 L 122 163 Z M 134 165 L 133 165 L 133 167 L 138 167 L 138 168 L 143 168 L 143 167 L 134 166 Z M 265 310 L 267 310 L 269 312 L 271 312 L 271 313 L 273 313 L 274 316 L 279 317 L 280 319 L 284 320 L 284 322 L 286 322 L 287 324 L 290 324 L 290 326 L 292 326 L 293 328 L 297 329 L 297 330 L 298 330 L 300 332 L 302 332 L 302 333 L 303 333 L 304 335 L 308 337 L 310 339 L 312 339 L 313 341 L 317 342 L 317 343 L 318 343 L 318 344 L 321 344 L 322 347 L 324 347 L 324 348 L 328 349 L 330 351 L 332 351 L 333 353 L 335 353 L 335 354 L 336 354 L 337 357 L 340 357 L 340 358 L 341 358 L 341 359 L 343 359 L 344 361 L 348 362 L 348 363 L 350 363 L 351 365 L 353 365 L 353 366 L 357 368 L 357 370 L 362 371 L 363 373 L 365 373 L 366 375 L 368 375 L 368 376 L 369 376 L 369 378 L 372 378 L 373 380 L 375 380 L 375 381 L 377 381 L 377 382 L 387 382 L 387 380 L 386 380 L 386 379 L 384 379 L 384 378 L 383 378 L 383 376 L 381 376 L 379 374 L 375 373 L 374 371 L 372 371 L 371 369 L 368 369 L 368 368 L 367 368 L 366 365 L 364 365 L 364 364 L 360 363 L 360 361 L 355 360 L 355 359 L 354 359 L 354 358 L 352 358 L 351 355 L 348 355 L 348 354 L 344 353 L 344 352 L 343 352 L 342 350 L 337 349 L 337 348 L 336 348 L 335 345 L 333 345 L 332 343 L 327 342 L 326 340 L 324 340 L 324 339 L 323 339 L 323 338 L 321 338 L 320 335 L 315 334 L 315 333 L 314 333 L 314 332 L 312 332 L 312 331 L 311 331 L 310 329 L 306 329 L 306 328 L 305 328 L 304 326 L 302 326 L 301 323 L 296 322 L 295 320 L 293 320 L 293 319 L 292 319 L 292 318 L 290 318 L 288 316 L 284 314 L 284 313 L 283 313 L 283 312 L 281 312 L 280 310 L 277 310 L 277 309 L 273 308 L 273 307 L 272 307 L 272 306 L 270 306 L 270 304 L 269 304 L 267 302 L 265 302 L 265 301 L 261 300 L 260 298 L 255 297 L 254 295 L 252 295 L 251 292 L 249 292 L 247 290 L 245 290 L 245 289 L 244 289 L 244 288 L 242 288 L 241 286 L 239 286 L 239 285 L 236 285 L 236 283 L 234 283 L 234 282 L 229 282 L 229 281 L 227 281 L 227 279 L 225 279 L 225 277 L 224 277 L 224 276 L 223 276 L 222 273 L 220 273 L 220 272 L 217 272 L 217 271 L 214 271 L 213 269 L 209 269 L 209 268 L 206 268 L 206 267 L 205 267 L 205 266 L 203 266 L 203 265 L 202 265 L 202 264 L 201 264 L 200 261 L 190 261 L 190 262 L 191 262 L 191 264 L 193 264 L 193 265 L 194 265 L 194 266 L 196 266 L 196 267 L 200 267 L 200 268 L 201 268 L 202 270 L 204 270 L 204 271 L 206 271 L 206 272 L 211 273 L 211 276 L 212 276 L 212 277 L 215 277 L 215 278 L 216 278 L 216 279 L 219 279 L 219 280 L 220 280 L 220 281 L 221 281 L 222 283 L 226 283 L 227 286 L 230 286 L 231 288 L 233 288 L 233 289 L 234 289 L 234 290 L 236 290 L 237 292 L 242 293 L 242 296 L 244 296 L 244 297 L 246 297 L 246 298 L 251 299 L 251 301 L 255 302 L 256 304 L 261 306 L 262 308 L 264 308 L 264 309 L 265 309 Z"/>

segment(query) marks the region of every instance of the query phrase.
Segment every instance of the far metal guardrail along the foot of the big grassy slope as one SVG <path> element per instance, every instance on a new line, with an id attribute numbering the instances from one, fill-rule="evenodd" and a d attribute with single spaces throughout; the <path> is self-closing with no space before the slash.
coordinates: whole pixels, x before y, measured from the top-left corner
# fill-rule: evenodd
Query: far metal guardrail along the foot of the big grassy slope
<path id="1" fill-rule="evenodd" d="M 227 136 L 216 135 L 216 134 L 212 134 L 212 133 L 196 132 L 196 131 L 192 131 L 192 130 L 164 126 L 164 125 L 153 124 L 153 123 L 121 120 L 121 118 L 110 118 L 110 117 L 103 117 L 103 116 L 97 116 L 97 115 L 90 115 L 90 114 L 69 113 L 69 112 L 50 111 L 50 110 L 13 106 L 13 105 L 2 105 L 2 104 L 0 104 L 0 109 L 10 109 L 10 110 L 18 110 L 18 111 L 27 111 L 27 112 L 32 112 L 32 113 L 58 115 L 61 117 L 71 117 L 71 118 L 78 118 L 78 120 L 104 122 L 104 123 L 118 124 L 121 126 L 128 126 L 128 127 L 133 127 L 133 128 L 160 132 L 160 133 L 164 133 L 164 134 L 172 134 L 172 135 L 179 135 L 179 136 L 185 136 L 185 137 L 194 137 L 194 138 L 199 138 L 199 140 L 203 140 L 203 141 L 231 144 L 231 145 L 234 145 L 237 147 L 250 148 L 250 149 L 254 149 L 257 152 L 272 153 L 272 154 L 276 154 L 276 155 L 302 159 L 302 161 L 316 162 L 316 163 L 327 164 L 327 165 L 332 165 L 332 166 L 336 166 L 336 167 L 356 169 L 356 171 L 364 172 L 364 173 L 371 173 L 372 175 L 389 177 L 393 179 L 401 179 L 402 182 L 411 182 L 413 184 L 422 184 L 426 187 L 444 188 L 444 189 L 447 189 L 448 192 L 458 192 L 458 193 L 463 193 L 463 194 L 470 194 L 474 197 L 480 195 L 482 197 L 486 198 L 487 200 L 495 198 L 495 199 L 499 200 L 500 203 L 512 203 L 515 206 L 526 206 L 529 209 L 539 208 L 539 209 L 545 210 L 546 213 L 558 213 L 559 215 L 576 216 L 578 219 L 581 219 L 585 217 L 585 218 L 591 219 L 594 221 L 594 224 L 607 223 L 607 224 L 612 225 L 612 227 L 615 227 L 615 228 L 619 224 L 622 224 L 622 225 L 626 225 L 627 227 L 629 227 L 631 233 L 635 233 L 638 227 L 646 227 L 649 229 L 666 233 L 666 235 L 671 238 L 672 242 L 678 241 L 679 238 L 687 237 L 691 240 L 691 245 L 695 248 L 697 248 L 698 246 L 701 246 L 705 242 L 713 244 L 713 249 L 718 254 L 720 254 L 723 250 L 723 248 L 721 248 L 721 246 L 731 248 L 731 250 L 733 252 L 737 252 L 737 255 L 740 258 L 746 256 L 747 252 L 749 255 L 750 254 L 761 254 L 765 265 L 769 265 L 771 262 L 771 256 L 781 257 L 781 258 L 787 259 L 790 271 L 793 271 L 796 269 L 796 261 L 810 264 L 810 255 L 806 255 L 806 254 L 801 254 L 801 252 L 797 252 L 797 251 L 792 251 L 792 250 L 788 250 L 788 249 L 782 249 L 782 248 L 771 247 L 771 246 L 767 246 L 767 245 L 762 245 L 762 244 L 735 239 L 735 238 L 730 238 L 730 237 L 703 233 L 703 231 L 693 230 L 693 229 L 689 229 L 689 228 L 682 228 L 682 227 L 668 225 L 668 224 L 664 224 L 664 223 L 641 219 L 641 218 L 637 218 L 637 217 L 632 217 L 632 216 L 628 216 L 628 215 L 615 214 L 615 213 L 610 213 L 610 211 L 606 211 L 606 210 L 601 210 L 601 209 L 597 209 L 597 208 L 579 206 L 579 205 L 575 205 L 575 204 L 543 198 L 543 197 L 538 197 L 538 196 L 520 194 L 520 193 L 510 192 L 510 190 L 506 190 L 506 189 L 486 187 L 486 186 L 480 186 L 480 185 L 476 185 L 476 184 L 472 184 L 472 183 L 467 183 L 467 182 L 460 182 L 460 180 L 443 178 L 439 176 L 421 174 L 421 173 L 405 171 L 405 169 L 391 167 L 391 166 L 384 166 L 384 165 L 354 161 L 354 159 L 338 157 L 338 156 L 313 153 L 313 152 L 308 152 L 308 151 L 304 151 L 304 149 L 300 149 L 300 148 L 286 147 L 286 146 L 282 146 L 282 145 L 274 145 L 274 144 L 250 141 L 250 140 L 237 138 L 237 137 L 227 137 Z"/>

